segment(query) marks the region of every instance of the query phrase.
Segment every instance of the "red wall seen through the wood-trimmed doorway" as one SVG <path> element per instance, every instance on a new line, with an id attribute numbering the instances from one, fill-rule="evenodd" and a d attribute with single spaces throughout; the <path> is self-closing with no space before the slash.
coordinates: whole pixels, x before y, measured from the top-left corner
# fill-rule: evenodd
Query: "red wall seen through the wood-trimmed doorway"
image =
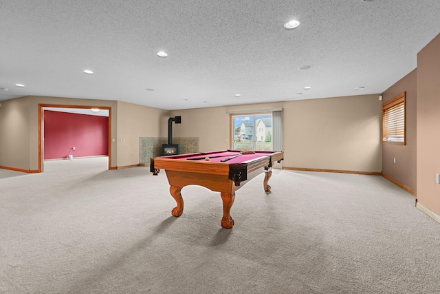
<path id="1" fill-rule="evenodd" d="M 44 159 L 108 156 L 108 149 L 107 116 L 44 111 Z"/>

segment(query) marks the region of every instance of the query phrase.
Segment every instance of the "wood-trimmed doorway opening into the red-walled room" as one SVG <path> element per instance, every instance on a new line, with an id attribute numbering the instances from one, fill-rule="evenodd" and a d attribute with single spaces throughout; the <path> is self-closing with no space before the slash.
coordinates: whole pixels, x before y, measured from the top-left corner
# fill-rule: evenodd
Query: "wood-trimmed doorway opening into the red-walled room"
<path id="1" fill-rule="evenodd" d="M 74 156 L 107 156 L 111 169 L 110 138 L 111 107 L 41 104 L 39 172 L 44 171 L 45 160 L 72 160 Z"/>

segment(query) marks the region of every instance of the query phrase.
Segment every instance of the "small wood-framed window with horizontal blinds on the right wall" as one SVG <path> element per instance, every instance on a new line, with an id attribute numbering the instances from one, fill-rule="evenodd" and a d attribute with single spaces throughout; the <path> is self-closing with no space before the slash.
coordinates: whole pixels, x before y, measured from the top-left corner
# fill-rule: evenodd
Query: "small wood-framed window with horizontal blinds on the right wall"
<path id="1" fill-rule="evenodd" d="M 382 105 L 382 143 L 405 145 L 405 92 Z"/>

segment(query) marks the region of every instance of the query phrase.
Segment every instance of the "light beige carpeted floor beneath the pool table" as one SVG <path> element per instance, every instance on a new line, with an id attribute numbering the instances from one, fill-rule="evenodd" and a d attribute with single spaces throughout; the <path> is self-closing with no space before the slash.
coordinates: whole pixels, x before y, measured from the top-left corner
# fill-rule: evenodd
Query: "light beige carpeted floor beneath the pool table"
<path id="1" fill-rule="evenodd" d="M 275 170 L 219 193 L 107 158 L 0 170 L 0 293 L 440 293 L 440 225 L 380 176 Z"/>

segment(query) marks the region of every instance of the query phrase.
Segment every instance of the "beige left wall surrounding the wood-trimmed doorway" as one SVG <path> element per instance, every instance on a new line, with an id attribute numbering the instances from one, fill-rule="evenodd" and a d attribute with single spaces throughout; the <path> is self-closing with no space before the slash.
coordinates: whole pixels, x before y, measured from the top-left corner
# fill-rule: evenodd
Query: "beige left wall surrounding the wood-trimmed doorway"
<path id="1" fill-rule="evenodd" d="M 118 101 L 25 96 L 0 102 L 0 166 L 25 171 L 39 169 L 39 105 L 109 107 L 110 167 L 139 163 L 139 137 L 159 136 L 167 110 Z M 122 139 L 122 141 L 120 140 Z"/>

